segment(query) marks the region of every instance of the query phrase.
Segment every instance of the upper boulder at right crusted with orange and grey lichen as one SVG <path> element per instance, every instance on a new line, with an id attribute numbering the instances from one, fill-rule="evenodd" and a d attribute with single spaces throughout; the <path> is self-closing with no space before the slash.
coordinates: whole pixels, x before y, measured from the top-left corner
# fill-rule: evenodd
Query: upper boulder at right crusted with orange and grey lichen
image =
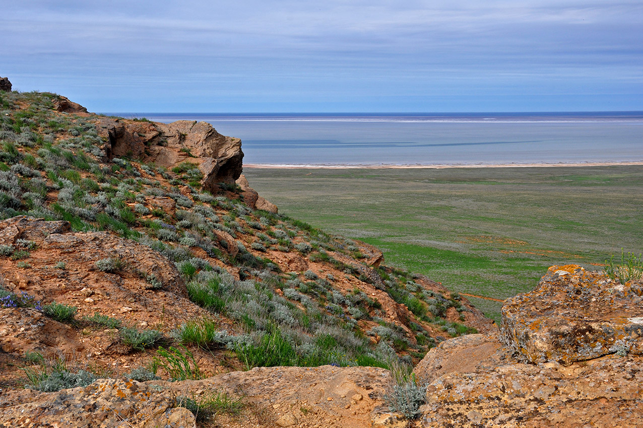
<path id="1" fill-rule="evenodd" d="M 643 354 L 643 283 L 621 285 L 577 265 L 552 266 L 502 307 L 502 341 L 526 361 L 570 364 Z"/>

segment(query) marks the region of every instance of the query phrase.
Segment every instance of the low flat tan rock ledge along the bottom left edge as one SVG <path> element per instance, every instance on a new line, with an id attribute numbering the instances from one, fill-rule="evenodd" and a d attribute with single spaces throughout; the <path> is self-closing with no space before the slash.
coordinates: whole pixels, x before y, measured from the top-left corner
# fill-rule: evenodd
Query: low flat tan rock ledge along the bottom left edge
<path id="1" fill-rule="evenodd" d="M 55 393 L 0 395 L 0 427 L 192 428 L 194 416 L 175 398 L 226 393 L 243 397 L 246 410 L 225 426 L 367 428 L 390 379 L 380 368 L 333 366 L 255 368 L 184 382 L 101 379 Z"/>

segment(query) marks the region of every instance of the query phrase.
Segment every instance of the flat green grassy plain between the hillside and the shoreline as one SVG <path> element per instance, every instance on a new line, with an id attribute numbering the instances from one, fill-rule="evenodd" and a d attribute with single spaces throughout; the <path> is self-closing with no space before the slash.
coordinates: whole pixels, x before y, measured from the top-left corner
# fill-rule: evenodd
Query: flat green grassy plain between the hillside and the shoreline
<path id="1" fill-rule="evenodd" d="M 643 166 L 244 168 L 250 185 L 312 226 L 374 244 L 386 264 L 458 292 L 508 298 L 550 265 L 643 249 Z M 500 303 L 469 298 L 499 319 Z"/>

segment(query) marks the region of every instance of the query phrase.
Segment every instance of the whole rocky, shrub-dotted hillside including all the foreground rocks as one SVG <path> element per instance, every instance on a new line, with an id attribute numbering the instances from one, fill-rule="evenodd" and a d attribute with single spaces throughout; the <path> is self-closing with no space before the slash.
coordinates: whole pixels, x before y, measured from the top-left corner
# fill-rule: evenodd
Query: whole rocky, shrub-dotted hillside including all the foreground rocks
<path id="1" fill-rule="evenodd" d="M 643 426 L 640 282 L 551 269 L 498 331 L 207 123 L 0 91 L 0 144 L 0 427 Z"/>

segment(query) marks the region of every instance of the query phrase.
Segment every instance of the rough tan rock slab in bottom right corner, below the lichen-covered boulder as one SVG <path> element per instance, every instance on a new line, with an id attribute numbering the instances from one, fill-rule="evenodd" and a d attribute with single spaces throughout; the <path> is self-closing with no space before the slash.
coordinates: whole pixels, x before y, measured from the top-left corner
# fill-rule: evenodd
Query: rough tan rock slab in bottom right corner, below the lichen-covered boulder
<path id="1" fill-rule="evenodd" d="M 433 380 L 422 427 L 643 427 L 641 357 L 504 364 Z"/>

